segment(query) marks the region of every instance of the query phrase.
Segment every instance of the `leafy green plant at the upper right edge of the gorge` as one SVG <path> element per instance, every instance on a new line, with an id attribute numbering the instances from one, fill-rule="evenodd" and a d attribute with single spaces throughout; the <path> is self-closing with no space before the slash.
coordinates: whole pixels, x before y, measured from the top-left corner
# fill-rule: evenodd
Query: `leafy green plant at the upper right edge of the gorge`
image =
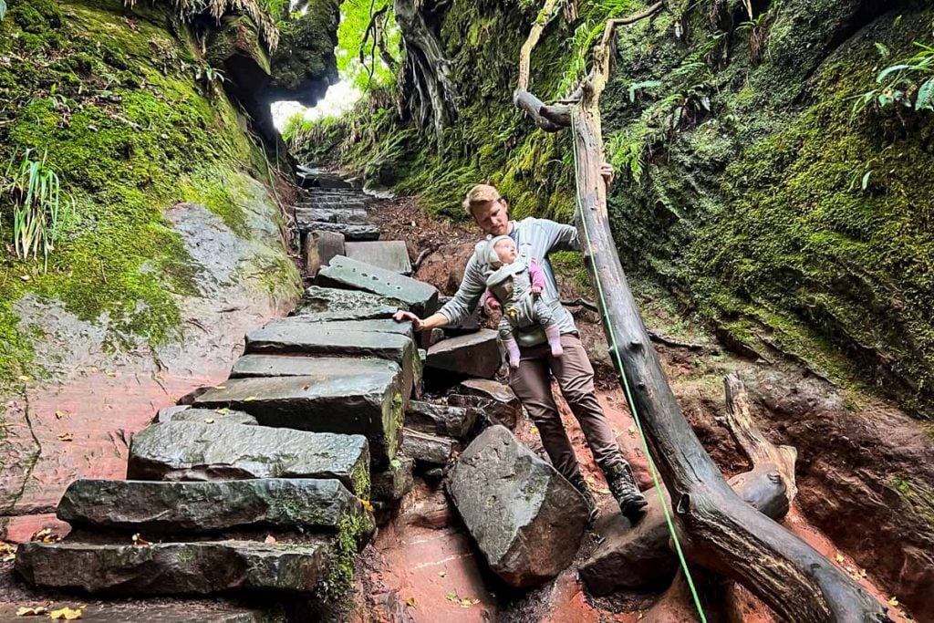
<path id="1" fill-rule="evenodd" d="M 853 98 L 856 100 L 854 117 L 869 106 L 903 106 L 915 111 L 934 111 L 934 46 L 918 41 L 914 46 L 918 50 L 912 57 L 879 72 L 876 77 L 878 87 Z M 876 44 L 876 49 L 883 58 L 891 55 L 882 44 Z"/>

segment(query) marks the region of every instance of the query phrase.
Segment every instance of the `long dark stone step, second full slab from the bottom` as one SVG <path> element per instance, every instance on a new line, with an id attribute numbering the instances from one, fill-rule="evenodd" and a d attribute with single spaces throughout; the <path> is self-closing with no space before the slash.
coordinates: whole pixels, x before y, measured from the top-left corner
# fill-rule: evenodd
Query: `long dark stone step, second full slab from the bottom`
<path id="1" fill-rule="evenodd" d="M 76 480 L 58 517 L 73 527 L 182 534 L 232 530 L 337 532 L 372 528 L 360 500 L 338 480 L 263 478 L 215 482 Z"/>

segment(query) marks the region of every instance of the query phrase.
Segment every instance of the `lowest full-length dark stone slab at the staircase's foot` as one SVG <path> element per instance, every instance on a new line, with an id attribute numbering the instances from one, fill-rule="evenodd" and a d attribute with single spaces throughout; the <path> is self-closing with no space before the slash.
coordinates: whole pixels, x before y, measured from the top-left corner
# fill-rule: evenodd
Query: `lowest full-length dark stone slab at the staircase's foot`
<path id="1" fill-rule="evenodd" d="M 88 545 L 26 543 L 16 573 L 37 587 L 115 594 L 207 594 L 230 590 L 307 593 L 327 579 L 334 546 L 251 541 Z"/>

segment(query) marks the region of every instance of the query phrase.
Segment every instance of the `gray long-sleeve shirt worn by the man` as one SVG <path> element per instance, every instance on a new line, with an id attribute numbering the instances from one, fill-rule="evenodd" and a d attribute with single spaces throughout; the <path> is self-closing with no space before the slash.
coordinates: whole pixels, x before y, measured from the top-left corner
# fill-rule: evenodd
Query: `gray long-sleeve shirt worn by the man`
<path id="1" fill-rule="evenodd" d="M 545 291 L 542 292 L 542 300 L 551 307 L 559 331 L 561 333 L 575 333 L 577 327 L 574 326 L 571 313 L 561 306 L 558 284 L 555 282 L 555 274 L 551 270 L 551 263 L 548 262 L 548 254 L 552 251 L 580 248 L 577 239 L 577 228 L 573 227 L 573 225 L 557 223 L 554 220 L 529 217 L 528 219 L 515 221 L 510 235 L 516 240 L 518 248 L 528 246 L 530 256 L 538 262 L 538 265 L 545 273 Z M 488 235 L 487 239 L 490 238 L 492 236 Z M 467 262 L 467 267 L 464 269 L 464 277 L 460 281 L 460 288 L 440 310 L 440 313 L 447 319 L 449 324 L 469 316 L 479 303 L 483 292 L 487 290 L 488 265 L 485 261 L 479 259 L 478 255 L 478 253 L 474 253 L 471 256 L 470 261 Z"/>

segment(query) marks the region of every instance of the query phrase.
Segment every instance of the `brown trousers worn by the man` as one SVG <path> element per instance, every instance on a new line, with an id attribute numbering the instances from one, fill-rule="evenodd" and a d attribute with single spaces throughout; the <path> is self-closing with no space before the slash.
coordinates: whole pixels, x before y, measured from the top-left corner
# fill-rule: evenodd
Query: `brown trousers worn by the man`
<path id="1" fill-rule="evenodd" d="M 606 470 L 624 462 L 613 430 L 603 415 L 593 386 L 593 366 L 580 339 L 573 334 L 561 335 L 564 354 L 552 357 L 547 344 L 523 348 L 519 367 L 512 371 L 509 385 L 529 412 L 542 435 L 545 452 L 551 464 L 569 480 L 580 476 L 577 458 L 568 433 L 561 423 L 555 398 L 551 395 L 551 378 L 555 375 L 564 400 L 587 437 L 587 445 L 601 469 Z"/>

